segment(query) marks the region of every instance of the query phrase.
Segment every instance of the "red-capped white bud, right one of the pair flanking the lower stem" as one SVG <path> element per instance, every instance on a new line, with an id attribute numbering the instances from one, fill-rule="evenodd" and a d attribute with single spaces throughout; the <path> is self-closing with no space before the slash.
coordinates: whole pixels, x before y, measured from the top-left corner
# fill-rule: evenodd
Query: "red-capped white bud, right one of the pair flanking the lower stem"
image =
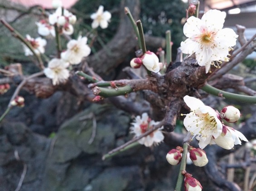
<path id="1" fill-rule="evenodd" d="M 203 149 L 199 149 L 199 148 L 193 148 L 190 147 L 189 151 L 189 158 L 192 160 L 192 162 L 194 163 L 194 165 L 198 166 L 198 167 L 203 167 L 208 163 L 208 158 L 205 154 L 205 152 L 203 151 Z"/>

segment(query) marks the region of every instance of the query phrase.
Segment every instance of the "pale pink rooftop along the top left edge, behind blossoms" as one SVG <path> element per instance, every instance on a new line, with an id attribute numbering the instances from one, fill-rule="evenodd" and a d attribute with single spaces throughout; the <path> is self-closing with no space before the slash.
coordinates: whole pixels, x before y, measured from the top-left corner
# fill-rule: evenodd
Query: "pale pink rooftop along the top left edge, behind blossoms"
<path id="1" fill-rule="evenodd" d="M 14 3 L 22 4 L 26 7 L 41 5 L 44 8 L 52 9 L 52 1 L 53 0 L 10 0 Z M 63 6 L 67 9 L 74 5 L 77 0 L 62 0 Z"/>

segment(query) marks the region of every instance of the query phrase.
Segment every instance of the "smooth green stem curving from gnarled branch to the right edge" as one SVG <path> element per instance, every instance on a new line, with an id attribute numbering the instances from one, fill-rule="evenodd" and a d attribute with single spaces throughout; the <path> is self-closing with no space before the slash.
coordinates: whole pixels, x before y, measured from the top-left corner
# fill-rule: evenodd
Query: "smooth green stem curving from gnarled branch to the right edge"
<path id="1" fill-rule="evenodd" d="M 215 96 L 236 100 L 239 102 L 256 103 L 256 96 L 239 95 L 236 93 L 229 93 L 220 89 L 214 88 L 213 86 L 206 84 L 201 88 L 203 91 L 213 94 Z"/>

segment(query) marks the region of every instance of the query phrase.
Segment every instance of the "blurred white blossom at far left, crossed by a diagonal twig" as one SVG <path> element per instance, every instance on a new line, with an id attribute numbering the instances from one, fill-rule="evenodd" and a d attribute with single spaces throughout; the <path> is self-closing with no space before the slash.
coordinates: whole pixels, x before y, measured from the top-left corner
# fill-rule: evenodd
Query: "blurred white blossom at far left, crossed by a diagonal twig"
<path id="1" fill-rule="evenodd" d="M 27 34 L 26 41 L 29 42 L 29 44 L 33 47 L 33 50 L 37 55 L 44 53 L 44 47 L 47 43 L 45 39 L 41 37 L 37 37 L 36 39 L 34 39 Z M 29 49 L 29 47 L 27 47 L 25 44 L 23 44 L 23 47 L 25 56 L 33 55 L 33 52 Z"/>

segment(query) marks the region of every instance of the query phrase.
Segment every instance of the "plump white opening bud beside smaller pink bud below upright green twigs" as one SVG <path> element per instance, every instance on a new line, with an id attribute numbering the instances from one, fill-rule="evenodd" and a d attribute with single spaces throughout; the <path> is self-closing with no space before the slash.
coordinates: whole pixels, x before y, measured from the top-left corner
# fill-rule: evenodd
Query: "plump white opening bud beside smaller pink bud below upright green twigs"
<path id="1" fill-rule="evenodd" d="M 151 72 L 159 72 L 160 66 L 162 63 L 159 63 L 159 58 L 155 55 L 154 52 L 147 51 L 142 57 L 141 61 L 145 67 Z"/>

